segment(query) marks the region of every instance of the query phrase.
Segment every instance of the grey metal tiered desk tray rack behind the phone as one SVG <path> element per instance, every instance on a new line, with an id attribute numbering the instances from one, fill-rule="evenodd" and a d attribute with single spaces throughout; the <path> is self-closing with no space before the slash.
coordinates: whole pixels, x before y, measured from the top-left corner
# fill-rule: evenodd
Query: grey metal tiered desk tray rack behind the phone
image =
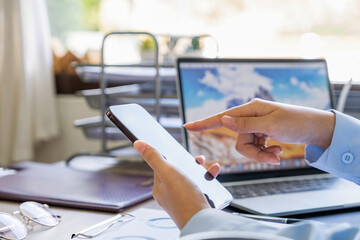
<path id="1" fill-rule="evenodd" d="M 105 45 L 114 35 L 143 35 L 155 43 L 154 61 L 146 64 L 105 63 Z M 199 35 L 198 37 L 211 37 Z M 215 41 L 216 42 L 216 41 Z M 174 43 L 171 43 L 174 44 Z M 216 43 L 217 44 L 217 43 Z M 217 45 L 216 45 L 217 47 Z M 135 102 L 145 107 L 178 141 L 181 141 L 181 119 L 179 117 L 179 100 L 176 93 L 175 64 L 164 64 L 159 61 L 159 43 L 155 35 L 148 32 L 112 32 L 107 34 L 101 45 L 101 64 L 77 64 L 77 74 L 84 82 L 98 81 L 99 89 L 82 90 L 77 95 L 85 97 L 91 108 L 99 109 L 100 116 L 79 119 L 74 122 L 88 138 L 101 141 L 102 156 L 126 155 L 126 146 L 130 141 L 106 117 L 107 107 L 115 104 Z M 140 75 L 142 75 L 140 79 Z M 119 80 L 120 79 L 120 80 Z M 120 81 L 120 86 L 108 87 L 109 82 Z M 109 140 L 122 140 L 116 149 L 108 148 Z M 125 151 L 123 151 L 125 149 Z M 125 152 L 125 153 L 124 153 Z"/>

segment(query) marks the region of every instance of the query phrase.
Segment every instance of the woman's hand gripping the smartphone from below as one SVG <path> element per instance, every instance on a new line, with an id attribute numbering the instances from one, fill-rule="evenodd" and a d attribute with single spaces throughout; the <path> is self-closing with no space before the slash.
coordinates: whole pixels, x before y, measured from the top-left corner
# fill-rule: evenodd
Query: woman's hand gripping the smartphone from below
<path id="1" fill-rule="evenodd" d="M 200 189 L 178 169 L 170 165 L 154 148 L 142 141 L 134 143 L 135 149 L 154 170 L 153 196 L 161 207 L 170 215 L 179 229 L 198 211 L 210 208 Z M 205 159 L 196 158 L 199 164 Z M 219 173 L 217 164 L 209 168 L 214 177 Z M 208 170 L 209 171 L 209 170 Z"/>

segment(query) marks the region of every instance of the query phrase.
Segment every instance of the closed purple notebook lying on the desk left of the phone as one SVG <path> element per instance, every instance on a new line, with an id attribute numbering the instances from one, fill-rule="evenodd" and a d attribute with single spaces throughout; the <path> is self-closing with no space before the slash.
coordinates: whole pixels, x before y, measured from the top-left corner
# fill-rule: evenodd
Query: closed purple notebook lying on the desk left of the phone
<path id="1" fill-rule="evenodd" d="M 152 197 L 152 176 L 23 162 L 0 178 L 0 198 L 118 212 Z M 150 180 L 150 183 L 149 183 Z M 149 183 L 149 184 L 148 184 Z"/>

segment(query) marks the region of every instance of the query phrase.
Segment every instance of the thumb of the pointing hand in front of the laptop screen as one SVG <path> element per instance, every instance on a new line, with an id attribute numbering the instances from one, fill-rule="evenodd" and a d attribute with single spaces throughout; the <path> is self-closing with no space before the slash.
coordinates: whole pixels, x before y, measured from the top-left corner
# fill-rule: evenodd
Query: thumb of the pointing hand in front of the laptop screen
<path id="1" fill-rule="evenodd" d="M 222 116 L 224 127 L 238 133 L 264 133 L 268 134 L 267 121 L 264 117 L 230 117 Z"/>

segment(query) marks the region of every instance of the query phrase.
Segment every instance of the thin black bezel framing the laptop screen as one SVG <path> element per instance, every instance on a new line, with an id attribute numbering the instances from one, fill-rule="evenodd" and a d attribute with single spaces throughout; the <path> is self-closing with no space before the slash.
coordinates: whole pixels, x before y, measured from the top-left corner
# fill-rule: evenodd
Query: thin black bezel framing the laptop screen
<path id="1" fill-rule="evenodd" d="M 334 97 L 333 89 L 330 83 L 327 63 L 325 59 L 297 59 L 297 58 L 178 58 L 176 61 L 177 69 L 177 91 L 179 97 L 179 111 L 182 121 L 185 123 L 185 112 L 184 112 L 184 100 L 182 95 L 182 83 L 180 81 L 181 63 L 324 63 L 325 70 L 327 73 L 327 81 L 329 86 L 330 93 L 330 102 L 331 108 L 334 108 Z M 189 150 L 187 130 L 182 128 L 182 137 L 184 147 Z M 253 179 L 264 179 L 264 178 L 278 178 L 278 177 L 287 177 L 287 176 L 297 176 L 297 175 L 310 175 L 310 174 L 324 174 L 325 172 L 318 170 L 312 167 L 305 167 L 300 169 L 282 169 L 282 170 L 271 170 L 271 171 L 254 171 L 254 172 L 238 172 L 238 173 L 224 173 L 220 174 L 217 179 L 221 182 L 230 182 L 230 181 L 242 181 L 242 180 L 253 180 Z"/>

